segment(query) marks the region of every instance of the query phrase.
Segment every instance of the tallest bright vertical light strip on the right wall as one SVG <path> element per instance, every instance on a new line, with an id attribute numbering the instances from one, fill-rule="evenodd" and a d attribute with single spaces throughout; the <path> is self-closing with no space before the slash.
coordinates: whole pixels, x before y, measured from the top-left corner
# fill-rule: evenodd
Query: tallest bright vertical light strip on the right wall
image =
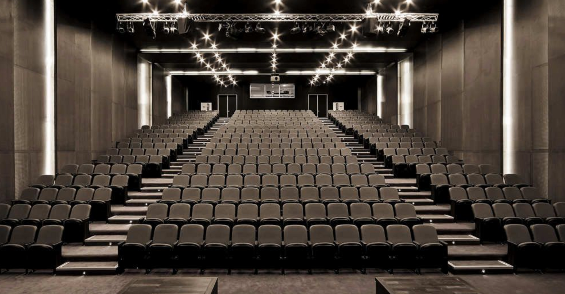
<path id="1" fill-rule="evenodd" d="M 502 171 L 514 172 L 514 0 L 504 0 L 502 70 Z"/>

